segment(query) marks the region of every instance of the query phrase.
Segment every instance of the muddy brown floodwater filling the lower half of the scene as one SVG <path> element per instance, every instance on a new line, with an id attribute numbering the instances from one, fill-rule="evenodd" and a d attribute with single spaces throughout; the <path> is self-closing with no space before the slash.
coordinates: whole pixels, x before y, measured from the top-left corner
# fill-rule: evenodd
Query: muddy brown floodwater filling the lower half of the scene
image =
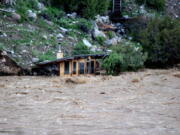
<path id="1" fill-rule="evenodd" d="M 180 71 L 0 77 L 0 135 L 180 135 Z"/>

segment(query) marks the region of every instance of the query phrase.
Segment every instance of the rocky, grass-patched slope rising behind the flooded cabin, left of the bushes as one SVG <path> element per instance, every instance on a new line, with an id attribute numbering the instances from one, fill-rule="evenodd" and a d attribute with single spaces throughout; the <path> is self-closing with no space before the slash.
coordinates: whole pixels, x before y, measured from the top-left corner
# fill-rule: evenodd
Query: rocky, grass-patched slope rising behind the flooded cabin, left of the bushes
<path id="1" fill-rule="evenodd" d="M 0 12 L 0 49 L 25 68 L 39 61 L 55 59 L 59 47 L 69 56 L 79 42 L 94 53 L 102 51 L 104 46 L 99 40 L 104 40 L 107 46 L 115 45 L 124 32 L 121 24 L 112 25 L 108 16 L 97 16 L 96 21 L 88 21 L 76 13 L 64 14 L 60 24 L 56 24 L 40 13 L 43 10 L 27 10 L 31 21 L 23 23 L 19 23 L 22 16 L 14 9 L 1 9 Z M 110 37 L 106 30 L 111 31 Z"/>

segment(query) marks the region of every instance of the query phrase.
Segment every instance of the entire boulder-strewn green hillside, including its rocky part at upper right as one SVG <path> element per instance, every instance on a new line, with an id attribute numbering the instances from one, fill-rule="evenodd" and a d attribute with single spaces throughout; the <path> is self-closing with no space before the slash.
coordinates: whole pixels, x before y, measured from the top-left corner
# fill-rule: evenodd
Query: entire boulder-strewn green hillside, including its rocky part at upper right
<path id="1" fill-rule="evenodd" d="M 111 46 L 132 39 L 126 33 L 127 25 L 112 23 L 108 16 L 86 19 L 42 0 L 2 0 L 0 7 L 0 49 L 23 68 L 56 59 L 59 48 L 71 56 L 74 47 L 83 43 L 91 53 L 107 53 Z M 125 18 L 156 14 L 179 18 L 177 0 L 168 0 L 165 8 L 164 12 L 155 11 L 135 0 L 124 0 L 122 14 Z"/>

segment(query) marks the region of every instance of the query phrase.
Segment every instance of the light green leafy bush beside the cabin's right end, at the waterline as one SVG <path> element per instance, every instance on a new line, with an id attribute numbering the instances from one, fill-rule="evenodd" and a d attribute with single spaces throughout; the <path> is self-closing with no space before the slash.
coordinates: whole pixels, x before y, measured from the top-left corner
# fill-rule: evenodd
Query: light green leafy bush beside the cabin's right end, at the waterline
<path id="1" fill-rule="evenodd" d="M 112 53 L 103 61 L 103 68 L 113 75 L 137 70 L 144 66 L 146 58 L 139 44 L 126 41 L 112 48 Z"/>

